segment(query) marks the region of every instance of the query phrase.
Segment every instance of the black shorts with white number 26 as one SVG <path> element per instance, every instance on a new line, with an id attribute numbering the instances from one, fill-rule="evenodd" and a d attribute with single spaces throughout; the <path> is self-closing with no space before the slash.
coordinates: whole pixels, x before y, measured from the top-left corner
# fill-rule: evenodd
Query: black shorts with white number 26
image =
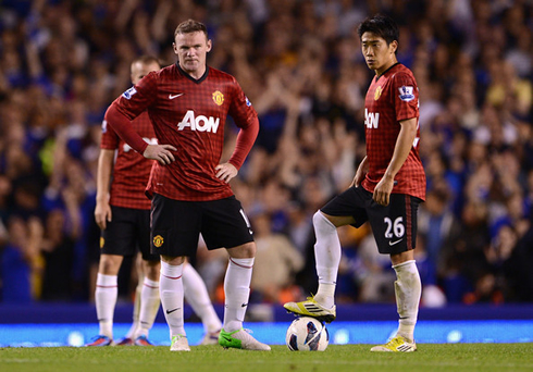
<path id="1" fill-rule="evenodd" d="M 369 221 L 380 253 L 398 255 L 417 245 L 417 212 L 422 200 L 406 194 L 391 194 L 388 206 L 380 206 L 372 193 L 350 187 L 333 198 L 321 211 L 329 215 L 356 220 L 355 227 Z"/>

